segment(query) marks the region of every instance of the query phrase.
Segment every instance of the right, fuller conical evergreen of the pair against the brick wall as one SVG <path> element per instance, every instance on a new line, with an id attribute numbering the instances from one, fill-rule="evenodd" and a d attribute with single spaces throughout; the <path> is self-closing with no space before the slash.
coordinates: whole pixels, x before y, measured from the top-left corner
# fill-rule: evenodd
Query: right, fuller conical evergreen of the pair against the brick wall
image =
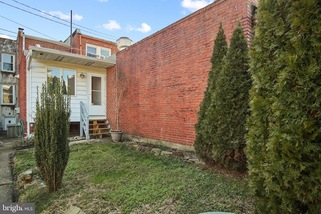
<path id="1" fill-rule="evenodd" d="M 249 114 L 249 89 L 247 41 L 240 23 L 230 40 L 230 48 L 222 62 L 222 70 L 216 79 L 216 88 L 208 108 L 211 127 L 214 162 L 230 169 L 245 170 L 245 128 Z"/>

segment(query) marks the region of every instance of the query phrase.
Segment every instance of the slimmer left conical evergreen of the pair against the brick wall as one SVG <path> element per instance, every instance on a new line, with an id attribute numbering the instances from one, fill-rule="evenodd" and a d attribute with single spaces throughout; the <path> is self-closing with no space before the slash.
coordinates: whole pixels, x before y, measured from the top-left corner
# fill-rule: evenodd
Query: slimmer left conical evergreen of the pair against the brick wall
<path id="1" fill-rule="evenodd" d="M 214 49 L 211 57 L 212 67 L 209 72 L 207 81 L 207 88 L 204 92 L 204 98 L 200 105 L 200 111 L 198 112 L 198 121 L 195 125 L 196 139 L 194 143 L 197 154 L 203 159 L 210 160 L 212 153 L 212 129 L 209 124 L 208 108 L 211 105 L 215 105 L 215 102 L 211 100 L 213 91 L 215 90 L 215 82 L 222 69 L 222 59 L 227 52 L 227 42 L 222 23 L 214 41 Z"/>

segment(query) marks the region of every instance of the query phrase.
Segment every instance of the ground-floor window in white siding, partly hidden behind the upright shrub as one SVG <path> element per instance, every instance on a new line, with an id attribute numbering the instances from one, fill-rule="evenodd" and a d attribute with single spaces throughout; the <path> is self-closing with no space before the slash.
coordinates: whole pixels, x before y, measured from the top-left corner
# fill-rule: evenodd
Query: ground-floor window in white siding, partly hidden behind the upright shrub
<path id="1" fill-rule="evenodd" d="M 65 93 L 67 93 L 67 88 L 70 87 L 71 95 L 75 95 L 76 91 L 76 78 L 75 71 L 60 69 L 60 68 L 47 68 L 47 77 L 53 78 L 53 82 L 55 81 L 63 81 L 65 86 Z M 63 78 L 61 80 L 61 77 Z"/>

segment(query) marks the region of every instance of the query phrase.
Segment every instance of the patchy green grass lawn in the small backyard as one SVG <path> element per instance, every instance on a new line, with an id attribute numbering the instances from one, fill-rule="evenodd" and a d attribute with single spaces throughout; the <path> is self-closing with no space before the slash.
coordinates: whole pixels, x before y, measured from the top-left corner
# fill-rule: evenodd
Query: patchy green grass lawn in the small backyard
<path id="1" fill-rule="evenodd" d="M 47 193 L 34 179 L 20 190 L 19 202 L 35 202 L 36 213 L 254 213 L 242 177 L 217 174 L 177 156 L 154 156 L 125 144 L 75 144 L 63 188 Z M 15 154 L 14 172 L 35 164 L 34 151 Z"/>

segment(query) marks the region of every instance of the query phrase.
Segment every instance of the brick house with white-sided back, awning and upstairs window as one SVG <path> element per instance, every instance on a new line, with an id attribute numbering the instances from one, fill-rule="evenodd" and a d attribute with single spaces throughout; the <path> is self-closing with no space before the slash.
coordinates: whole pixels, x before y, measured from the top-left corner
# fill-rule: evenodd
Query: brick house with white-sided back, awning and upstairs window
<path id="1" fill-rule="evenodd" d="M 74 125 L 71 130 L 82 126 L 80 115 L 83 111 L 88 113 L 93 123 L 100 120 L 104 121 L 105 126 L 108 123 L 106 69 L 116 64 L 116 44 L 82 35 L 79 30 L 75 31 L 72 37 L 71 47 L 70 38 L 66 40 L 69 41 L 68 44 L 24 35 L 23 29 L 19 31 L 19 117 L 24 121 L 27 134 L 34 130 L 37 87 L 40 93 L 42 84 L 45 84 L 49 77 L 60 80 L 62 78 L 61 81 L 71 89 L 70 122 Z M 91 125 L 86 129 L 95 127 L 93 132 L 100 133 L 103 130 L 101 125 Z"/>

